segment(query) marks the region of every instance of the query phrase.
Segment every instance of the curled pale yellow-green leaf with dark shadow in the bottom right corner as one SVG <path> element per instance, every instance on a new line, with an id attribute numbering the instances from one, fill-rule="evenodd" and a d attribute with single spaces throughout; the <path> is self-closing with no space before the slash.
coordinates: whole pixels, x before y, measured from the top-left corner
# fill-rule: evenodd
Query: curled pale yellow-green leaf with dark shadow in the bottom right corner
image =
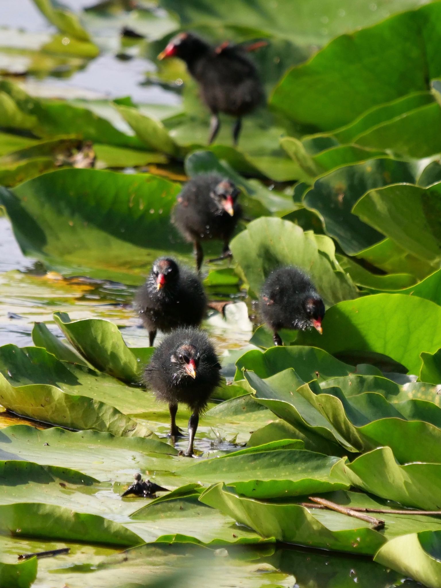
<path id="1" fill-rule="evenodd" d="M 440 536 L 439 531 L 422 531 L 396 537 L 380 547 L 374 560 L 437 588 L 441 577 Z"/>

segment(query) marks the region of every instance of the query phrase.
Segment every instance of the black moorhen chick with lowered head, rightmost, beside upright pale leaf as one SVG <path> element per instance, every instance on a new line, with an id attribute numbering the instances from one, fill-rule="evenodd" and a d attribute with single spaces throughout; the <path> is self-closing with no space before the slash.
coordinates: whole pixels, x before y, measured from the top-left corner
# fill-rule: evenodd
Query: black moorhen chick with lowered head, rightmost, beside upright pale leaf
<path id="1" fill-rule="evenodd" d="M 279 329 L 306 330 L 322 334 L 325 305 L 308 276 L 288 266 L 270 273 L 260 293 L 260 313 L 273 330 L 275 345 L 282 345 Z"/>

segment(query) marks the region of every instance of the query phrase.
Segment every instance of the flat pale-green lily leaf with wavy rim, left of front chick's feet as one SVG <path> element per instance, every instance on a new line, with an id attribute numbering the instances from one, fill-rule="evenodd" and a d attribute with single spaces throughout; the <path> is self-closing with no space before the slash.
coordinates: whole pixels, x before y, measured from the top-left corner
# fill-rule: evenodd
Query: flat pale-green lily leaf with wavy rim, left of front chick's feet
<path id="1" fill-rule="evenodd" d="M 58 427 L 38 430 L 28 425 L 0 430 L 0 459 L 28 460 L 60 468 L 68 463 L 101 481 L 127 483 L 134 473 L 155 463 L 155 457 L 172 462 L 169 455 L 178 455 L 178 451 L 152 437 L 119 437 L 93 430 L 76 433 Z M 169 469 L 176 469 L 176 464 Z"/>

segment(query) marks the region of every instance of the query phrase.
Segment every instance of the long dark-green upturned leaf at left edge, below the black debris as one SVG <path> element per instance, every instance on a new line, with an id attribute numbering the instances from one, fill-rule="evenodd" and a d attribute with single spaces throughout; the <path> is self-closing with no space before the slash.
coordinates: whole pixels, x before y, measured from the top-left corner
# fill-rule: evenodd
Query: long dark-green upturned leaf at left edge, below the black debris
<path id="1" fill-rule="evenodd" d="M 61 506 L 18 503 L 0 506 L 0 530 L 28 537 L 131 546 L 142 543 L 133 531 L 98 515 Z"/>

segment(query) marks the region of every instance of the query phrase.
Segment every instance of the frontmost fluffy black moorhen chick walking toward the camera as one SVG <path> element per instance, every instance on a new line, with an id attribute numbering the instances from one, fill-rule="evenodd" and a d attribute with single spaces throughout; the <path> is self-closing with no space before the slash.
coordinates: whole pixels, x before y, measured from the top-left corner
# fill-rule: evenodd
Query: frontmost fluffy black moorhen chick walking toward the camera
<path id="1" fill-rule="evenodd" d="M 167 335 L 156 348 L 145 368 L 143 382 L 158 400 L 168 402 L 170 436 L 181 433 L 176 426 L 178 404 L 183 402 L 192 410 L 188 421 L 189 442 L 186 457 L 193 455 L 193 441 L 198 429 L 199 415 L 219 385 L 218 357 L 205 333 L 198 329 L 177 329 Z"/>

